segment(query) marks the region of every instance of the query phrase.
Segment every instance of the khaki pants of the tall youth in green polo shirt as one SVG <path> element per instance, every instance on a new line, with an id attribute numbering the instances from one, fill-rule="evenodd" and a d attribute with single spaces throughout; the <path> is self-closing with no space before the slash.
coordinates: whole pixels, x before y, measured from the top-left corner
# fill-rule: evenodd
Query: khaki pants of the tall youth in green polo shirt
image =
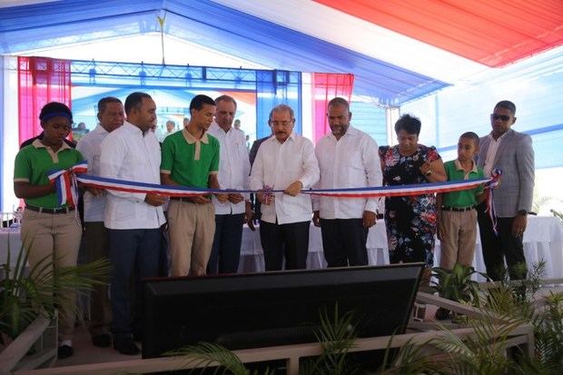
<path id="1" fill-rule="evenodd" d="M 215 234 L 212 203 L 170 201 L 168 233 L 172 276 L 204 275 Z"/>

